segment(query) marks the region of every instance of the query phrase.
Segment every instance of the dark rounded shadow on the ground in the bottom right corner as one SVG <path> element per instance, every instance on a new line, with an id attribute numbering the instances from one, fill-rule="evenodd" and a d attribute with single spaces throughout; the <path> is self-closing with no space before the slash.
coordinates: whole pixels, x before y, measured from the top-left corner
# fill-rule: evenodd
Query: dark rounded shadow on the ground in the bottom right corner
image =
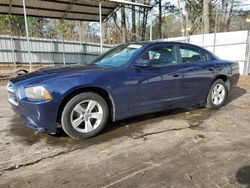
<path id="1" fill-rule="evenodd" d="M 246 185 L 250 188 L 250 165 L 241 167 L 236 173 L 238 183 Z"/>

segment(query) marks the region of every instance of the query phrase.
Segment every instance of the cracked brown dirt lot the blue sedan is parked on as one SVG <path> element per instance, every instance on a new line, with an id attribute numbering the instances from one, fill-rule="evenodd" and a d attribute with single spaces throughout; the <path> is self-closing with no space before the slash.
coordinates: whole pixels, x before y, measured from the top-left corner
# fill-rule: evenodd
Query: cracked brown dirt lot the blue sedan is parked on
<path id="1" fill-rule="evenodd" d="M 73 140 L 34 135 L 0 86 L 0 187 L 250 187 L 250 78 L 219 110 L 176 109 Z"/>

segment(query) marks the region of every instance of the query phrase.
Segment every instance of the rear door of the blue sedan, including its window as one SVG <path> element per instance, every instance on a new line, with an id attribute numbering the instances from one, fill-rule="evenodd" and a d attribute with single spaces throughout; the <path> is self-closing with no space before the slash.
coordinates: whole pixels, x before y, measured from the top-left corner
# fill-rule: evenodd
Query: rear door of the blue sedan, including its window
<path id="1" fill-rule="evenodd" d="M 214 64 L 209 53 L 201 48 L 178 45 L 178 59 L 182 65 L 180 72 L 181 93 L 187 103 L 199 103 L 206 98 L 214 77 Z"/>

